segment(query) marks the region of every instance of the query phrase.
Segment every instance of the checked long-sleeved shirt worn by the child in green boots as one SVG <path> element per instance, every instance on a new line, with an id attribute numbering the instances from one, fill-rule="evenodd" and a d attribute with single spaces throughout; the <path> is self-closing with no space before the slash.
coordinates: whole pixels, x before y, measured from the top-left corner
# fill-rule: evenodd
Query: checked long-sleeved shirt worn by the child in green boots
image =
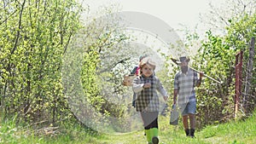
<path id="1" fill-rule="evenodd" d="M 143 84 L 151 83 L 150 88 L 143 88 Z M 161 95 L 167 96 L 166 89 L 160 83 L 160 79 L 154 75 L 150 77 L 138 76 L 133 81 L 132 89 L 137 93 L 137 112 L 159 112 L 160 101 L 157 95 L 158 90 Z"/>

